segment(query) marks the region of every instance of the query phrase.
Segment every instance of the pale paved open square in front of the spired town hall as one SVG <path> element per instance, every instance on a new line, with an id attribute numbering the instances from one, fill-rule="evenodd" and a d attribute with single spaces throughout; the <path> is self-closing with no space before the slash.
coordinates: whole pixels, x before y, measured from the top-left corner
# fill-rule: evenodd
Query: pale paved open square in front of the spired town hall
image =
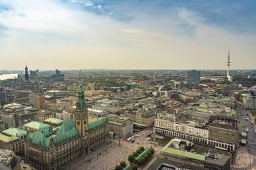
<path id="1" fill-rule="evenodd" d="M 128 156 L 132 154 L 138 147 L 149 147 L 153 145 L 153 148 L 156 150 L 156 153 L 160 152 L 162 147 L 155 146 L 154 143 L 149 141 L 151 138 L 147 137 L 151 133 L 151 130 L 142 130 L 138 132 L 140 137 L 135 138 L 134 143 L 129 143 L 127 141 L 113 140 L 111 143 L 103 143 L 99 147 L 95 148 L 95 151 L 91 151 L 85 156 L 80 156 L 71 160 L 65 165 L 67 170 L 82 170 L 82 169 L 114 169 L 116 165 L 119 165 L 121 161 L 124 161 L 128 164 Z M 156 154 L 155 154 L 156 155 Z"/>

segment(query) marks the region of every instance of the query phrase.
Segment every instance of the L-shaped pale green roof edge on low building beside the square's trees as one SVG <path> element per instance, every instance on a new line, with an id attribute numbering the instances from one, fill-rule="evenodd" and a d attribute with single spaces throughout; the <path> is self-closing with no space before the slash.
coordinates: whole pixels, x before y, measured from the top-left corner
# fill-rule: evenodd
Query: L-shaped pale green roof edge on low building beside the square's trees
<path id="1" fill-rule="evenodd" d="M 179 149 L 173 149 L 173 148 L 169 148 L 169 145 L 171 145 L 171 143 L 173 142 L 173 139 L 171 141 L 169 141 L 169 143 L 162 149 L 162 152 L 166 152 L 167 154 L 175 154 L 178 156 L 184 156 L 186 158 L 192 158 L 195 160 L 205 160 L 205 156 L 204 155 L 200 155 L 200 154 L 195 154 L 189 151 L 182 151 Z"/>

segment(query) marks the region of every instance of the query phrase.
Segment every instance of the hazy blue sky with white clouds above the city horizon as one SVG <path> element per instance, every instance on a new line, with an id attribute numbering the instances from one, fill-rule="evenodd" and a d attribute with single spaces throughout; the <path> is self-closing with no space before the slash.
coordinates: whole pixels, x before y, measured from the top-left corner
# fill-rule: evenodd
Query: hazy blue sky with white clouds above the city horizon
<path id="1" fill-rule="evenodd" d="M 0 0 L 0 70 L 256 69 L 256 1 Z"/>

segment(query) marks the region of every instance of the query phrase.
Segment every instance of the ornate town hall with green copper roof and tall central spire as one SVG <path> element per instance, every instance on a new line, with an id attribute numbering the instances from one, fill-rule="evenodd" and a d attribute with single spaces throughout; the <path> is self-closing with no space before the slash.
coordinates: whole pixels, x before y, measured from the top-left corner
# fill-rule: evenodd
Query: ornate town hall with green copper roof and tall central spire
<path id="1" fill-rule="evenodd" d="M 75 118 L 63 121 L 58 130 L 52 127 L 28 134 L 24 145 L 25 159 L 37 169 L 58 169 L 68 161 L 87 154 L 93 147 L 107 141 L 108 120 L 88 121 L 84 92 L 78 90 Z"/>

